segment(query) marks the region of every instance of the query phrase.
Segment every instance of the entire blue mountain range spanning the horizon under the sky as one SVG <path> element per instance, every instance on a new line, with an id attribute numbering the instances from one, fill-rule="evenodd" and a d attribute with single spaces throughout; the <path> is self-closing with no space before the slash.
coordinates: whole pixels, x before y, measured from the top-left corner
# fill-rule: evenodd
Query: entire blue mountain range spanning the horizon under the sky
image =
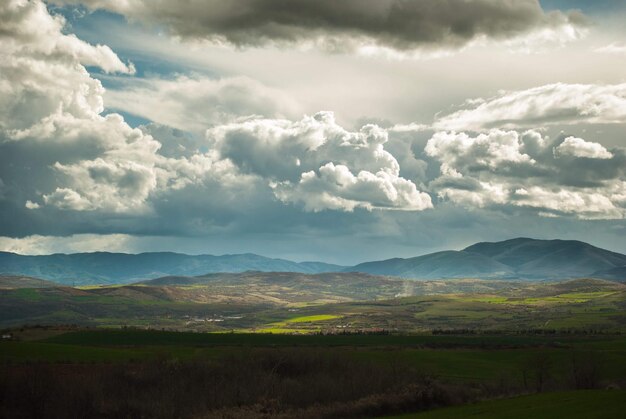
<path id="1" fill-rule="evenodd" d="M 575 240 L 516 238 L 477 243 L 414 258 L 394 258 L 339 266 L 292 262 L 255 254 L 185 255 L 179 253 L 77 253 L 25 256 L 0 252 L 0 274 L 29 276 L 63 284 L 131 283 L 163 276 L 209 273 L 359 272 L 408 279 L 556 280 L 595 277 L 626 280 L 626 255 Z"/>

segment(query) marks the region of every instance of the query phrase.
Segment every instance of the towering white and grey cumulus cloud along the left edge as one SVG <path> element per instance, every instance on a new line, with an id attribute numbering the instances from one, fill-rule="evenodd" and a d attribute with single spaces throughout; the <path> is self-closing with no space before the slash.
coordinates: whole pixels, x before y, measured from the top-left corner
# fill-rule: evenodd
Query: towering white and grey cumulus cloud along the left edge
<path id="1" fill-rule="evenodd" d="M 0 159 L 4 209 L 145 213 L 150 198 L 224 172 L 210 153 L 167 157 L 149 133 L 102 115 L 85 65 L 129 72 L 108 47 L 63 34 L 40 1 L 0 6 Z M 170 147 L 171 148 L 171 147 Z M 11 204 L 7 204 L 10 202 Z"/>

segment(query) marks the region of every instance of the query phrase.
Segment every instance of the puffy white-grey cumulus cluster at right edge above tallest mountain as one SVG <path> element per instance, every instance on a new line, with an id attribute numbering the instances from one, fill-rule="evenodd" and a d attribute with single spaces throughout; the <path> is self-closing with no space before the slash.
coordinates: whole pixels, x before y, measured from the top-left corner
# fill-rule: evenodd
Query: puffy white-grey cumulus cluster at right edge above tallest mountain
<path id="1" fill-rule="evenodd" d="M 543 216 L 626 218 L 626 150 L 536 131 L 436 133 L 425 153 L 440 164 L 429 184 L 466 207 L 525 208 Z"/>

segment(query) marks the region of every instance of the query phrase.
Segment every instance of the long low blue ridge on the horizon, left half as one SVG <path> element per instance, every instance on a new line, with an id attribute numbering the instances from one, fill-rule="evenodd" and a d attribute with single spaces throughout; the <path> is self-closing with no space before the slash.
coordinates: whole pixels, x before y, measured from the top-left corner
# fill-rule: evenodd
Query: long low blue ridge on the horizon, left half
<path id="1" fill-rule="evenodd" d="M 339 271 L 342 266 L 322 262 L 292 262 L 255 254 L 185 255 L 180 253 L 76 253 L 25 256 L 0 252 L 0 274 L 43 278 L 62 284 L 126 284 L 166 275 L 202 275 L 211 272 Z"/>

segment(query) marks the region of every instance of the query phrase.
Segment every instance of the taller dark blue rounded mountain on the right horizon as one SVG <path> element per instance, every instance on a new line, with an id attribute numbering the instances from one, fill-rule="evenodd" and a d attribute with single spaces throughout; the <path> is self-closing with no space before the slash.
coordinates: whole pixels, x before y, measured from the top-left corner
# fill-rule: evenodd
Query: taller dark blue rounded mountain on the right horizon
<path id="1" fill-rule="evenodd" d="M 367 262 L 347 271 L 403 278 L 626 279 L 626 255 L 575 240 L 517 238 L 461 251 Z"/>

